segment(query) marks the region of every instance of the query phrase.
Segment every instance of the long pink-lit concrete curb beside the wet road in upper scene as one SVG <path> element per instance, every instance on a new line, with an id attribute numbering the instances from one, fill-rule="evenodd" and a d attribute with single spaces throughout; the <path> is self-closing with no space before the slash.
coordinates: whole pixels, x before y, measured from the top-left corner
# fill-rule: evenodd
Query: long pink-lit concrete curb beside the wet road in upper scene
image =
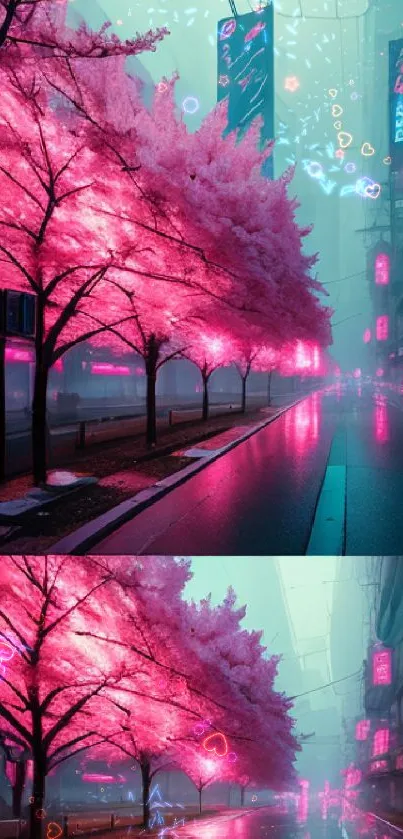
<path id="1" fill-rule="evenodd" d="M 103 513 L 96 519 L 87 522 L 87 524 L 79 527 L 78 530 L 73 531 L 73 533 L 69 533 L 68 536 L 64 536 L 59 542 L 52 545 L 48 549 L 47 553 L 83 556 L 88 553 L 94 545 L 106 536 L 109 536 L 110 533 L 113 533 L 113 531 L 120 527 L 120 525 L 135 518 L 136 515 L 143 512 L 143 510 L 146 510 L 147 507 L 151 507 L 151 505 L 156 501 L 160 501 L 161 498 L 171 492 L 171 490 L 181 484 L 184 484 L 189 480 L 189 478 L 192 478 L 193 475 L 197 474 L 197 472 L 201 472 L 202 469 L 205 469 L 211 463 L 214 463 L 214 461 L 218 460 L 218 458 L 222 457 L 222 455 L 227 454 L 227 452 L 230 452 L 232 449 L 235 449 L 240 445 L 240 443 L 249 440 L 249 438 L 253 437 L 254 434 L 257 434 L 263 428 L 266 428 L 272 422 L 275 422 L 275 420 L 291 408 L 299 405 L 300 402 L 308 399 L 311 395 L 311 393 L 304 394 L 304 396 L 296 399 L 295 402 L 292 402 L 290 405 L 280 408 L 277 413 L 273 414 L 273 416 L 269 417 L 269 419 L 263 420 L 258 425 L 252 426 L 250 431 L 247 431 L 241 437 L 238 437 L 236 440 L 233 440 L 221 449 L 215 449 L 211 456 L 199 458 L 195 463 L 190 463 L 189 466 L 186 466 L 179 472 L 175 472 L 168 478 L 158 481 L 158 483 L 148 489 L 141 490 L 132 498 L 129 498 L 127 501 L 123 501 L 121 504 L 118 504 L 116 507 L 108 510 L 107 513 Z"/>

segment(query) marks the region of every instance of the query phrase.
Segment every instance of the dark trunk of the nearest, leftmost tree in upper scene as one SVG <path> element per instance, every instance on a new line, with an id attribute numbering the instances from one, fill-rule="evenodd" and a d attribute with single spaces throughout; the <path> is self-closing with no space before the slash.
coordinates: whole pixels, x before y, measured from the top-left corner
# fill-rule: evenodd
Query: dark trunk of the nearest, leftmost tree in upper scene
<path id="1" fill-rule="evenodd" d="M 32 401 L 32 465 L 34 483 L 46 483 L 47 472 L 47 406 L 49 365 L 44 358 L 44 309 L 37 302 L 35 338 L 35 380 Z"/>

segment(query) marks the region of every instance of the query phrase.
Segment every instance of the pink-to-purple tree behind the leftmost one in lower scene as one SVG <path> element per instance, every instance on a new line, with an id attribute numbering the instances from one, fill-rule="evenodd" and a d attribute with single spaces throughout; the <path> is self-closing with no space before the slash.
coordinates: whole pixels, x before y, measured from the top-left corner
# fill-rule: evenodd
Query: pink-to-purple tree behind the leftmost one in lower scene
<path id="1" fill-rule="evenodd" d="M 149 560 L 137 560 L 134 568 L 121 564 L 118 579 L 129 598 L 135 586 L 136 626 L 153 660 L 164 662 L 165 669 L 152 690 L 143 685 L 146 696 L 139 697 L 125 680 L 116 687 L 120 731 L 89 753 L 139 762 L 145 825 L 151 782 L 162 768 L 183 768 L 200 796 L 213 780 L 238 781 L 245 772 L 275 787 L 293 778 L 298 748 L 291 703 L 274 690 L 278 659 L 264 657 L 260 633 L 241 628 L 245 609 L 236 608 L 234 593 L 217 607 L 209 599 L 188 604 L 181 593 L 189 562 Z M 117 641 L 115 635 L 108 643 L 119 643 L 130 654 L 125 638 Z"/>

